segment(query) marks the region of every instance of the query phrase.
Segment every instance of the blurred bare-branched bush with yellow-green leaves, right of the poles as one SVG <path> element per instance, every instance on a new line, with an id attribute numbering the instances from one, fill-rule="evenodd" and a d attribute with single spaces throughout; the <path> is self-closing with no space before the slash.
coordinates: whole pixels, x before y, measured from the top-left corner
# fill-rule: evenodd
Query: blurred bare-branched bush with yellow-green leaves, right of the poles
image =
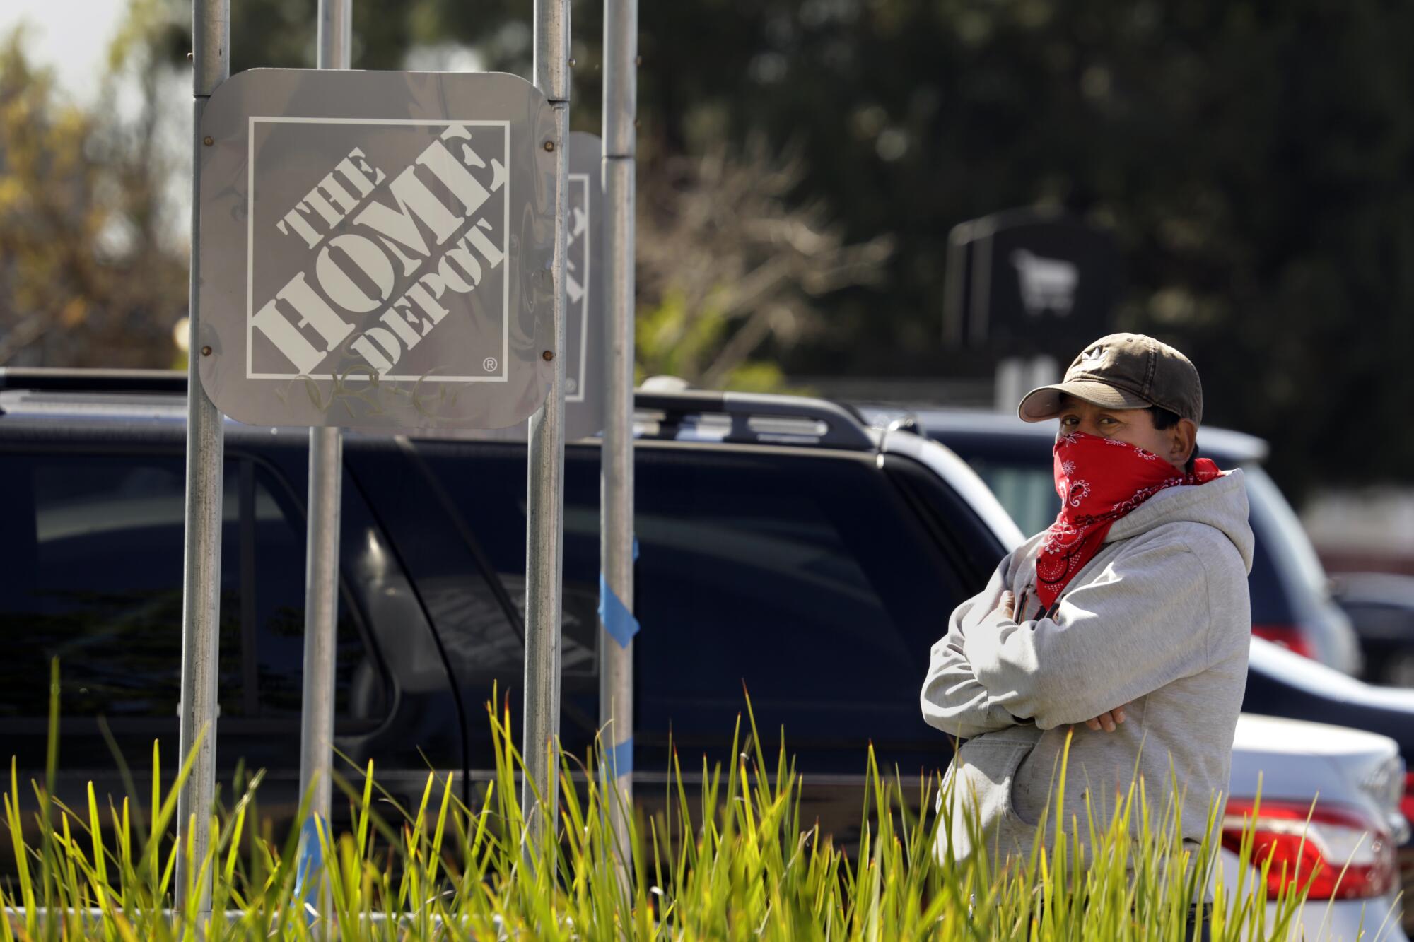
<path id="1" fill-rule="evenodd" d="M 867 284 L 887 236 L 846 245 L 822 201 L 792 205 L 799 158 L 754 139 L 741 154 L 658 161 L 638 194 L 638 362 L 704 389 L 778 389 L 781 368 L 754 359 L 819 328 L 814 303 Z"/>

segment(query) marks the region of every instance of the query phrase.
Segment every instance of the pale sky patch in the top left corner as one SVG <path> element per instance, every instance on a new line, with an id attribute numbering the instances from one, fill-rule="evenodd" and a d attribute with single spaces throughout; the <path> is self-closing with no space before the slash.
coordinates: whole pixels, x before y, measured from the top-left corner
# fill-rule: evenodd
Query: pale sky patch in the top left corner
<path id="1" fill-rule="evenodd" d="M 85 100 L 126 10 L 127 0 L 0 0 L 0 35 L 27 23 L 30 61 L 54 68 L 59 86 Z"/>

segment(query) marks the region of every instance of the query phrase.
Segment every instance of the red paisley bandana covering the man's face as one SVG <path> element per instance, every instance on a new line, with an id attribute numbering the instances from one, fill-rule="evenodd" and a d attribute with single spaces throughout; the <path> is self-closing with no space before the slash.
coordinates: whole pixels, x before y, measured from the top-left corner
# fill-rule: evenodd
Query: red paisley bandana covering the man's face
<path id="1" fill-rule="evenodd" d="M 1055 478 L 1060 513 L 1036 556 L 1036 598 L 1046 611 L 1070 578 L 1100 552 L 1106 533 L 1159 491 L 1208 484 L 1222 472 L 1208 458 L 1193 474 L 1138 446 L 1072 431 L 1056 438 Z"/>

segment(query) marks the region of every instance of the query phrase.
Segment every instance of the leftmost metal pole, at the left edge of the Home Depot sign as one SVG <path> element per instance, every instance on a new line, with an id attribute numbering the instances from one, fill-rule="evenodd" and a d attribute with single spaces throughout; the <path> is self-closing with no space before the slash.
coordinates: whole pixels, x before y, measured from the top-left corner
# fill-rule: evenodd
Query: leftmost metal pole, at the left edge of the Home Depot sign
<path id="1" fill-rule="evenodd" d="M 197 894 L 198 922 L 211 915 L 211 876 L 197 885 L 211 853 L 216 793 L 216 675 L 221 631 L 221 519 L 225 429 L 201 385 L 201 115 L 211 93 L 230 76 L 230 0 L 192 0 L 192 168 L 191 287 L 187 362 L 187 501 L 182 549 L 181 702 L 177 707 L 180 761 L 195 750 L 189 778 L 177 795 L 175 902 Z M 198 748 L 199 741 L 199 748 Z M 189 859 L 182 853 L 189 846 Z M 189 861 L 189 863 L 188 863 Z M 188 870 L 189 867 L 189 870 Z"/>

